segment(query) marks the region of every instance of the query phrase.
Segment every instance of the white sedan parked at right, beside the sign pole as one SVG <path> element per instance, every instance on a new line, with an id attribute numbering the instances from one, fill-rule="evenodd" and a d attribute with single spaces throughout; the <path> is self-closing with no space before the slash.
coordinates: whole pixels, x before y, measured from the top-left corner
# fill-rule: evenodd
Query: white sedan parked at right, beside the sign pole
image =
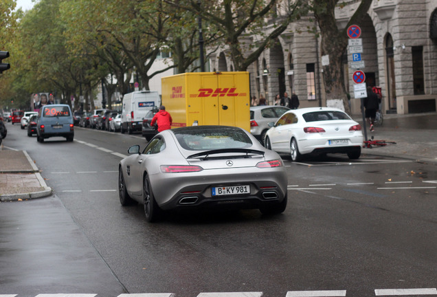
<path id="1" fill-rule="evenodd" d="M 298 162 L 302 155 L 346 153 L 350 159 L 361 155 L 364 137 L 361 125 L 330 107 L 311 107 L 287 111 L 267 131 L 265 147 L 289 153 Z"/>

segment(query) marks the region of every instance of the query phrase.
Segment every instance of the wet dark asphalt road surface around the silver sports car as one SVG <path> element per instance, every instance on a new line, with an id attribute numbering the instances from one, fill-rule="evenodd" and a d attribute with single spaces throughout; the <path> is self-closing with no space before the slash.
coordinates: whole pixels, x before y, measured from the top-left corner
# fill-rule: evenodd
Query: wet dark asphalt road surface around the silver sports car
<path id="1" fill-rule="evenodd" d="M 148 224 L 116 192 L 120 154 L 144 140 L 77 129 L 72 144 L 38 144 L 20 133 L 11 128 L 8 140 L 36 160 L 56 195 L 0 204 L 0 294 L 374 296 L 437 286 L 435 164 L 286 160 L 292 198 L 280 216 L 249 210 Z"/>

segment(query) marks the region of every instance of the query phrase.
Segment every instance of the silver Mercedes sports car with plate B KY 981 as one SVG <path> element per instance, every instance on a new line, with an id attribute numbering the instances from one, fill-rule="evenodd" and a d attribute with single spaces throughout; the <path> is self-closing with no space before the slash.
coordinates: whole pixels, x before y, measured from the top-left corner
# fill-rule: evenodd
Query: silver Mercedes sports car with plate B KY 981
<path id="1" fill-rule="evenodd" d="M 247 131 L 233 126 L 188 126 L 162 131 L 120 162 L 122 206 L 144 203 L 147 221 L 165 210 L 287 207 L 282 159 Z"/>

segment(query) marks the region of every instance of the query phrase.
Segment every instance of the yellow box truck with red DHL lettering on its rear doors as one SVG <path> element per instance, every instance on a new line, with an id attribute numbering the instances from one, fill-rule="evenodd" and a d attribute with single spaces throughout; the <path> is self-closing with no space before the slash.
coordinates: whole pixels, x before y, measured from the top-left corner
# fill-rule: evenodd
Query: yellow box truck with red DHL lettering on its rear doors
<path id="1" fill-rule="evenodd" d="M 249 72 L 190 72 L 161 78 L 172 128 L 238 126 L 250 132 Z"/>

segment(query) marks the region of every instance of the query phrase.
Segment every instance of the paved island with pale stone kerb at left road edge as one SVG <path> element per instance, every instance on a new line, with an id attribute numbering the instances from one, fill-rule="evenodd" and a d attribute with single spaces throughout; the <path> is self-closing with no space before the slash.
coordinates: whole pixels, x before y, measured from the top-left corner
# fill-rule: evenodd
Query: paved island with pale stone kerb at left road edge
<path id="1" fill-rule="evenodd" d="M 26 151 L 0 151 L 0 202 L 52 195 Z"/>

